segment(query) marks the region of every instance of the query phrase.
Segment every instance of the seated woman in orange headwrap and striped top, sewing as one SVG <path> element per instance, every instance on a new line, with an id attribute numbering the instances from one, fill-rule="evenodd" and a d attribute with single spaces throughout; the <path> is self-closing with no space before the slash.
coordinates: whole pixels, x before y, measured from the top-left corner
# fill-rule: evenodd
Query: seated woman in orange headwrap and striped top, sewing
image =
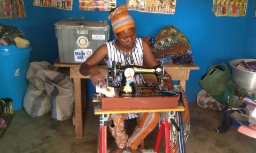
<path id="1" fill-rule="evenodd" d="M 80 67 L 82 75 L 90 75 L 92 84 L 98 83 L 106 86 L 103 76 L 95 69 L 100 61 L 105 59 L 108 68 L 112 68 L 112 61 L 121 62 L 122 65 L 138 65 L 154 67 L 159 63 L 154 58 L 150 46 L 141 38 L 136 38 L 135 24 L 133 18 L 127 12 L 126 5 L 117 7 L 110 13 L 111 25 L 114 35 L 117 38 L 112 42 L 107 42 L 100 46 Z M 168 75 L 168 74 L 166 74 Z M 117 77 L 121 80 L 121 76 Z M 144 83 L 142 75 L 134 77 L 134 83 Z M 165 80 L 166 86 L 173 89 L 172 78 Z M 137 113 L 139 122 L 134 133 L 128 138 L 125 133 L 124 123 L 127 114 L 112 114 L 114 127 L 110 127 L 110 132 L 115 138 L 117 148 L 110 152 L 122 152 L 125 148 L 131 152 L 142 152 L 137 149 L 141 139 L 144 139 L 158 123 L 159 112 Z"/>

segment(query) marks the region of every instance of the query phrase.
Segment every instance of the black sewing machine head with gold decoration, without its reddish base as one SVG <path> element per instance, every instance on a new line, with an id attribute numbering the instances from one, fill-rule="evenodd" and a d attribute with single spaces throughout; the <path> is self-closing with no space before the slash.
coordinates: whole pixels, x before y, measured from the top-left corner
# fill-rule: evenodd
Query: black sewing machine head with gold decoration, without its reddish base
<path id="1" fill-rule="evenodd" d="M 141 94 L 142 90 L 145 90 L 143 85 L 136 85 L 134 84 L 134 76 L 137 74 L 154 74 L 157 77 L 157 81 L 160 84 L 159 89 L 162 89 L 163 80 L 167 79 L 168 77 L 164 76 L 164 65 L 158 65 L 152 68 L 142 67 L 142 66 L 135 66 L 135 65 L 125 65 L 122 66 L 121 63 L 116 63 L 113 61 L 112 69 L 108 70 L 107 75 L 107 85 L 112 86 L 113 84 L 118 84 L 120 87 L 120 93 L 122 96 L 143 96 L 145 94 Z M 122 75 L 121 81 L 116 81 L 118 75 Z M 152 87 L 147 90 L 151 91 L 152 94 L 158 94 L 158 92 L 153 91 Z M 147 94 L 148 95 L 148 94 Z"/>

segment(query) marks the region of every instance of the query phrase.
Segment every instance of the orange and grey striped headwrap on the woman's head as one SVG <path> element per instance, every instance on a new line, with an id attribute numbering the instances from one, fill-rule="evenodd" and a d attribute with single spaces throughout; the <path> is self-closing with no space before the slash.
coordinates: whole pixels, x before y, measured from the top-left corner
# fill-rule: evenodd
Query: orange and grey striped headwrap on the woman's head
<path id="1" fill-rule="evenodd" d="M 131 17 L 127 12 L 126 5 L 120 5 L 117 7 L 117 9 L 110 13 L 108 19 L 111 19 L 114 34 L 118 34 L 125 29 L 135 27 L 133 17 Z"/>

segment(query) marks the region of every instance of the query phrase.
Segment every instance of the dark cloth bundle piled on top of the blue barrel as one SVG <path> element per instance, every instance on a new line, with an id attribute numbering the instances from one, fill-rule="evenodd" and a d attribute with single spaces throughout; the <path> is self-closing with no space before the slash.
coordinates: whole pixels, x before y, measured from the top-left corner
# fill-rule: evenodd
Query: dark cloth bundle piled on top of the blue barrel
<path id="1" fill-rule="evenodd" d="M 5 46 L 15 44 L 19 48 L 26 48 L 30 43 L 18 28 L 0 23 L 0 44 Z"/>

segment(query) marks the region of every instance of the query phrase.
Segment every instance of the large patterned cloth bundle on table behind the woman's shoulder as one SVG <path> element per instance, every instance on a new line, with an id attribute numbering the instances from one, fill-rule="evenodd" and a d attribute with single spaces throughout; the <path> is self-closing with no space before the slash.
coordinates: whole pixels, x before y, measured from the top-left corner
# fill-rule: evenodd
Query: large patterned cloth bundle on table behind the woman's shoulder
<path id="1" fill-rule="evenodd" d="M 187 37 L 174 26 L 166 26 L 151 39 L 151 51 L 160 62 L 173 62 L 176 64 L 192 64 L 190 42 Z"/>

